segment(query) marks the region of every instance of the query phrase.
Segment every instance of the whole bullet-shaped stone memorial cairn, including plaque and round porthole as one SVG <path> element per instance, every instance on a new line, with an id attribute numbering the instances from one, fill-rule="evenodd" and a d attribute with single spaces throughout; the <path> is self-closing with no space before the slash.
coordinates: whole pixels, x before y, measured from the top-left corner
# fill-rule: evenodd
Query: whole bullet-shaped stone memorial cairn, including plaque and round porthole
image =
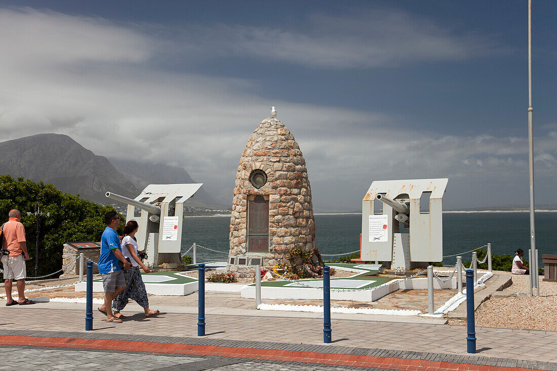
<path id="1" fill-rule="evenodd" d="M 233 194 L 228 271 L 252 277 L 253 258 L 260 258 L 262 266 L 285 273 L 294 266 L 308 271 L 305 276 L 320 274 L 306 162 L 277 118 L 263 120 L 250 136 Z"/>

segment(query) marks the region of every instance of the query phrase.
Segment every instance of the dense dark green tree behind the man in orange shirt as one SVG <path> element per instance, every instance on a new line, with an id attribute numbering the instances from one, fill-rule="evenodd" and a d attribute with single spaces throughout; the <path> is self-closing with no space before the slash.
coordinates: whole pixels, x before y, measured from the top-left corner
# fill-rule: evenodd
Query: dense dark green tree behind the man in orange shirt
<path id="1" fill-rule="evenodd" d="M 63 244 L 67 241 L 100 241 L 105 230 L 104 214 L 113 207 L 96 204 L 78 196 L 58 191 L 52 184 L 17 179 L 0 175 L 0 221 L 8 220 L 8 212 L 18 209 L 25 226 L 27 250 L 27 275 L 34 276 L 37 216 L 41 212 L 50 216 L 40 217 L 38 275 L 46 275 L 62 268 Z M 30 213 L 30 214 L 28 214 Z M 125 219 L 120 215 L 121 233 Z M 56 276 L 54 276 L 56 277 Z M 50 278 L 50 277 L 49 277 Z"/>

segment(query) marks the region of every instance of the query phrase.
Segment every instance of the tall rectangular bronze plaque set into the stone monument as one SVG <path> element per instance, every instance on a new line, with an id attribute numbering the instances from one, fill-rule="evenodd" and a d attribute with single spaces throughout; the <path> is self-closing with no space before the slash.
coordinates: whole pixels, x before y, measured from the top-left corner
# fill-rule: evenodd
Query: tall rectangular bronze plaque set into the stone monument
<path id="1" fill-rule="evenodd" d="M 248 251 L 269 251 L 269 201 L 256 196 L 248 201 Z"/>

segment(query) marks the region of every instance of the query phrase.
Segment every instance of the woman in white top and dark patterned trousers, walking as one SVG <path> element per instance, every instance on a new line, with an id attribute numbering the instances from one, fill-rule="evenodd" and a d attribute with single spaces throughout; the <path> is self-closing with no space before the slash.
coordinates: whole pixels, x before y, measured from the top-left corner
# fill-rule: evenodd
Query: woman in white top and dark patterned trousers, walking
<path id="1" fill-rule="evenodd" d="M 124 238 L 120 243 L 122 255 L 131 263 L 131 269 L 124 271 L 126 288 L 120 292 L 112 302 L 112 310 L 116 318 L 126 318 L 120 311 L 128 304 L 128 299 L 135 300 L 145 310 L 145 317 L 159 314 L 158 310 L 149 309 L 149 299 L 145 291 L 145 284 L 141 279 L 139 267 L 150 273 L 149 268 L 138 257 L 138 243 L 135 240 L 135 233 L 138 231 L 138 222 L 130 220 L 124 227 Z"/>

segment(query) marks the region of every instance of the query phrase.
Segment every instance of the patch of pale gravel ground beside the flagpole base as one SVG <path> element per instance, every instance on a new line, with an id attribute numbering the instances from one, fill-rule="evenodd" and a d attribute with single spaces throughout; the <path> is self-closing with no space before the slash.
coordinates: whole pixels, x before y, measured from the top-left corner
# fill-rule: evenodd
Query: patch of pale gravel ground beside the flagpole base
<path id="1" fill-rule="evenodd" d="M 476 325 L 557 331 L 557 282 L 542 278 L 540 296 L 529 296 L 529 276 L 512 275 L 512 285 L 503 291 L 525 296 L 491 297 L 476 310 Z"/>

